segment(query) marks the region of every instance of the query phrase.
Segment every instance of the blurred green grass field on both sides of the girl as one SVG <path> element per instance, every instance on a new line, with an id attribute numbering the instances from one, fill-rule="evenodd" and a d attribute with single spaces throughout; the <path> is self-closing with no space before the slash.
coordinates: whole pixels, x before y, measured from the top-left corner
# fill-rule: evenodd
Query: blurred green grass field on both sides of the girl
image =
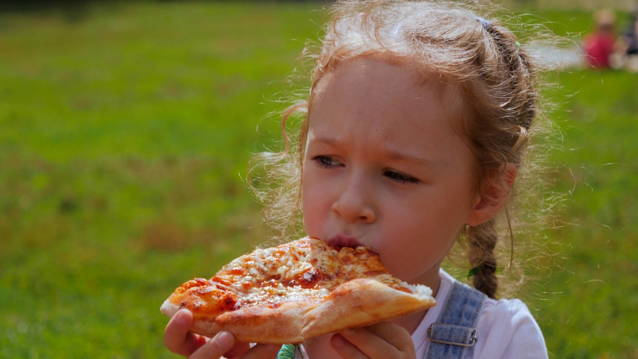
<path id="1" fill-rule="evenodd" d="M 170 358 L 166 296 L 267 238 L 244 181 L 322 3 L 0 13 L 0 357 Z M 563 36 L 584 11 L 544 11 Z M 558 75 L 568 193 L 526 302 L 553 358 L 638 358 L 638 77 Z M 547 265 L 545 265 L 547 266 Z"/>

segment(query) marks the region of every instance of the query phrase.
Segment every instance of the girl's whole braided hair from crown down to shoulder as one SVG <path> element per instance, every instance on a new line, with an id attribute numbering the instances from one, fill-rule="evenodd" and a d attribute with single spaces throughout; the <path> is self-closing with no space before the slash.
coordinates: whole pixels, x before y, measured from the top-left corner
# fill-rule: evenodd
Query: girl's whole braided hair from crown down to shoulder
<path id="1" fill-rule="evenodd" d="M 519 49 L 516 36 L 498 22 L 479 20 L 482 41 L 476 42 L 482 49 L 476 57 L 475 66 L 479 69 L 484 84 L 482 91 L 470 93 L 489 93 L 482 109 L 477 111 L 480 118 L 467 132 L 475 156 L 482 168 L 477 174 L 479 183 L 489 181 L 489 174 L 503 168 L 503 165 L 521 165 L 523 151 L 526 149 L 530 130 L 537 116 L 537 92 L 535 90 L 535 70 L 530 57 Z M 510 218 L 505 208 L 507 231 L 512 234 Z M 496 221 L 470 226 L 465 232 L 468 241 L 468 259 L 473 275 L 473 286 L 487 294 L 496 296 L 498 279 L 496 277 L 496 255 L 494 250 L 499 236 Z M 513 243 L 513 241 L 512 241 Z"/>

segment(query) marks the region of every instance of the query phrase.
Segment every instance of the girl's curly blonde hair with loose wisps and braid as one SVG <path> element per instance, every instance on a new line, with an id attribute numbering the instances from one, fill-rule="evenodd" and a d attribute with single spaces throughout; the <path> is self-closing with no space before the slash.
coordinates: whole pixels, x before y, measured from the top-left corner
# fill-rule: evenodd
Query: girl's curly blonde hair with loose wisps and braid
<path id="1" fill-rule="evenodd" d="M 539 69 L 500 22 L 479 17 L 468 4 L 354 0 L 334 5 L 325 33 L 318 51 L 307 52 L 314 60 L 308 99 L 291 105 L 282 116 L 285 149 L 256 155 L 249 171 L 253 190 L 269 204 L 267 222 L 281 233 L 302 233 L 302 160 L 313 90 L 326 73 L 353 57 L 410 61 L 420 72 L 459 86 L 472 112 L 461 124 L 461 133 L 476 158 L 477 190 L 506 164 L 515 165 L 519 177 L 526 177 L 524 158 L 530 155 L 528 144 L 538 128 Z M 300 121 L 292 139 L 296 146 L 291 148 L 286 126 L 295 114 Z M 506 207 L 502 212 L 505 232 L 512 237 L 516 223 L 510 211 Z M 490 297 L 498 289 L 495 250 L 503 237 L 497 222 L 493 218 L 466 226 L 459 238 L 468 268 L 473 268 L 473 285 Z M 514 261 L 508 267 L 513 269 Z"/>

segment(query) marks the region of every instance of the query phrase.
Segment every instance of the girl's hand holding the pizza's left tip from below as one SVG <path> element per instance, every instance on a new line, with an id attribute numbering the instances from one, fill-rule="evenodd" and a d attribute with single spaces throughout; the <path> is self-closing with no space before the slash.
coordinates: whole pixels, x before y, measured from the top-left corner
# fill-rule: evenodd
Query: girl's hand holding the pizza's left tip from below
<path id="1" fill-rule="evenodd" d="M 219 332 L 212 339 L 189 332 L 193 325 L 193 314 L 182 309 L 170 319 L 164 332 L 164 344 L 173 353 L 189 359 L 204 358 L 275 358 L 280 346 L 257 344 L 250 348 L 248 343 L 235 343 L 235 337 L 228 332 Z"/>

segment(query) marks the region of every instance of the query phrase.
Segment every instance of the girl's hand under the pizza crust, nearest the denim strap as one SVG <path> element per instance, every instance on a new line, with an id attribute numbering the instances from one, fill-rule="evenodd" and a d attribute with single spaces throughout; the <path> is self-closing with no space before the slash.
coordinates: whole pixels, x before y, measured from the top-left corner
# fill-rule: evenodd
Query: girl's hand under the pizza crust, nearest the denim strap
<path id="1" fill-rule="evenodd" d="M 416 357 L 410 333 L 388 322 L 344 330 L 332 336 L 330 345 L 345 359 Z"/>

